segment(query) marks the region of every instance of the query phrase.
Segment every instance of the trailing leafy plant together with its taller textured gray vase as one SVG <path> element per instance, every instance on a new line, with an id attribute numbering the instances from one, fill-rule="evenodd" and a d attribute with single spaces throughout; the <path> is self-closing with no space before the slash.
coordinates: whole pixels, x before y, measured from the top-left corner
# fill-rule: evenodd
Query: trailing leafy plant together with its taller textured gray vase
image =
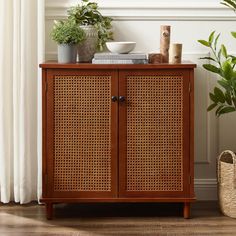
<path id="1" fill-rule="evenodd" d="M 86 34 L 86 40 L 79 45 L 79 61 L 91 61 L 96 50 L 103 50 L 105 43 L 113 39 L 112 18 L 103 16 L 98 4 L 89 0 L 82 0 L 81 4 L 71 7 L 68 15 Z"/>

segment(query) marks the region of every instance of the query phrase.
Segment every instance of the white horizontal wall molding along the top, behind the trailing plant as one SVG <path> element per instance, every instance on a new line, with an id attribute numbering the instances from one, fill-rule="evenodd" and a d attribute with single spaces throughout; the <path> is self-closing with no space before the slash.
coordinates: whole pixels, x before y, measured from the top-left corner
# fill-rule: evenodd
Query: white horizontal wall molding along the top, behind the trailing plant
<path id="1" fill-rule="evenodd" d="M 60 19 L 77 1 L 48 0 L 46 19 Z M 117 1 L 102 0 L 99 6 L 104 15 L 114 20 L 174 20 L 174 21 L 235 21 L 235 13 L 219 2 L 205 1 Z"/>

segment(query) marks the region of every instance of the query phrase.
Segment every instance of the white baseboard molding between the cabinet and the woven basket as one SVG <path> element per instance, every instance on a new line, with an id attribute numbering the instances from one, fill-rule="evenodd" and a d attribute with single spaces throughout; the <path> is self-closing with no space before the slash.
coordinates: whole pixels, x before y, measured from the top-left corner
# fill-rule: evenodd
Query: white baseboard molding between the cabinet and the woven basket
<path id="1" fill-rule="evenodd" d="M 216 179 L 195 179 L 195 194 L 200 201 L 216 201 L 217 180 Z"/>

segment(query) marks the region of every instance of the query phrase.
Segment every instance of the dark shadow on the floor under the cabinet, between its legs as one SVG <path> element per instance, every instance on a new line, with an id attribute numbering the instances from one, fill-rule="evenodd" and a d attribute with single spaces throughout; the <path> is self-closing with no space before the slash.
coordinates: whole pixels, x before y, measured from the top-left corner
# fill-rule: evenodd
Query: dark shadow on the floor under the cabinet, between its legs
<path id="1" fill-rule="evenodd" d="M 182 216 L 180 203 L 89 203 L 55 204 L 54 216 L 64 217 L 142 217 Z"/>

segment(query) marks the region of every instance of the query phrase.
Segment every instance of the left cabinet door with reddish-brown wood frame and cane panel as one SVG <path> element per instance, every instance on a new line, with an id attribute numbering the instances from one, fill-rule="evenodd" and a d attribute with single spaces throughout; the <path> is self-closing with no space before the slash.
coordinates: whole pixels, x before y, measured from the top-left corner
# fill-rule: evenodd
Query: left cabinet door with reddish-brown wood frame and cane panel
<path id="1" fill-rule="evenodd" d="M 44 197 L 116 197 L 117 72 L 49 69 L 46 78 Z"/>

